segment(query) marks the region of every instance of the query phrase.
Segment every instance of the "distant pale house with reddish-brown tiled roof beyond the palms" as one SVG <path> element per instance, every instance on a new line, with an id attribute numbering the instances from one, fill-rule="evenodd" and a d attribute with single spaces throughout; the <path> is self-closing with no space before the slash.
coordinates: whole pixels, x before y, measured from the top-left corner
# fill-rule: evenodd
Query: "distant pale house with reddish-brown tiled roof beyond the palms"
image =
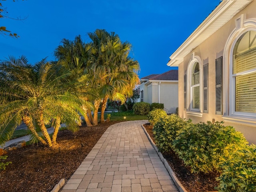
<path id="1" fill-rule="evenodd" d="M 178 70 L 141 78 L 140 101 L 163 103 L 167 113 L 174 113 L 178 107 Z"/>

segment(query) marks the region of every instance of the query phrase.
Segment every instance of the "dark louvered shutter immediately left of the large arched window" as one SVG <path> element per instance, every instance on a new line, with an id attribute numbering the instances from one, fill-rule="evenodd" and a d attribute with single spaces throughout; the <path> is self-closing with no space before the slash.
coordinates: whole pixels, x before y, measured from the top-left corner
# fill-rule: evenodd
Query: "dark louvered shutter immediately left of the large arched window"
<path id="1" fill-rule="evenodd" d="M 223 57 L 219 57 L 215 60 L 216 68 L 216 114 L 222 115 L 222 60 Z"/>

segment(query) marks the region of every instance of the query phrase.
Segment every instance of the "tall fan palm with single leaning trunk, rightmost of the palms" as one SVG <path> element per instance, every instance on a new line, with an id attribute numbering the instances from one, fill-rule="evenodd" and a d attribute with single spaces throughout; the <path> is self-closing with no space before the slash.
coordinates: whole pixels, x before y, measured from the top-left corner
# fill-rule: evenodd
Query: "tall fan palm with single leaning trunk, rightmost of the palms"
<path id="1" fill-rule="evenodd" d="M 132 94 L 135 84 L 138 82 L 139 70 L 137 61 L 132 60 L 128 54 L 131 44 L 121 42 L 114 32 L 97 29 L 94 33 L 88 33 L 92 40 L 90 65 L 94 80 L 100 85 L 102 98 L 101 122 L 104 122 L 104 111 L 107 100 L 126 99 L 126 94 Z"/>

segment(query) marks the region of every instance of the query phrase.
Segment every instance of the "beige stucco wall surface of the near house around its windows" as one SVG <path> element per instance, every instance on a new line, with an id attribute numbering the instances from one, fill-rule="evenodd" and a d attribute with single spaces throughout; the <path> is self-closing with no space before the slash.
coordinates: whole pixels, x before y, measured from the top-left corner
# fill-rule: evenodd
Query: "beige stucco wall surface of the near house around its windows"
<path id="1" fill-rule="evenodd" d="M 215 59 L 220 56 L 224 56 L 224 46 L 235 29 L 235 19 L 241 14 L 246 14 L 246 19 L 256 18 L 256 1 L 250 3 L 246 8 L 240 11 L 234 18 L 217 30 L 212 36 L 206 39 L 202 44 L 196 47 L 192 52 L 196 56 L 201 58 L 202 64 L 208 63 L 208 113 L 203 113 L 202 117 L 196 117 L 188 115 L 184 111 L 184 74 L 188 68 L 190 62 L 191 54 L 190 52 L 185 58 L 184 62 L 179 64 L 179 115 L 182 118 L 190 118 L 193 122 L 205 122 L 207 120 L 223 121 L 222 115 L 215 114 Z M 223 65 L 229 66 L 229 62 L 225 63 L 223 60 Z M 188 95 L 187 95 L 188 96 Z M 225 100 L 223 100 L 225 102 Z M 248 124 L 238 124 L 238 123 L 225 123 L 226 125 L 231 125 L 236 128 L 236 130 L 241 131 L 249 142 L 256 144 L 256 126 L 251 126 Z"/>

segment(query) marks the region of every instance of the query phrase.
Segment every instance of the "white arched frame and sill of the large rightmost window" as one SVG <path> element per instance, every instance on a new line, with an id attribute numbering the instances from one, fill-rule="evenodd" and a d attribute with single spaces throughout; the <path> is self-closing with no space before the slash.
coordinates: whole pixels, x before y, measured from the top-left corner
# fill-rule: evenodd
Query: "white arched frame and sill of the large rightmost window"
<path id="1" fill-rule="evenodd" d="M 237 22 L 240 22 L 238 25 Z M 242 34 L 248 31 L 256 31 L 256 18 L 247 19 L 246 15 L 241 15 L 236 19 L 236 28 L 232 31 L 226 45 L 224 47 L 224 61 L 223 61 L 223 119 L 226 122 L 236 122 L 240 124 L 256 125 L 256 113 L 236 112 L 235 111 L 235 96 L 236 96 L 236 82 L 235 77 L 239 74 L 233 74 L 233 52 L 238 39 Z M 244 73 L 243 73 L 244 74 Z"/>

